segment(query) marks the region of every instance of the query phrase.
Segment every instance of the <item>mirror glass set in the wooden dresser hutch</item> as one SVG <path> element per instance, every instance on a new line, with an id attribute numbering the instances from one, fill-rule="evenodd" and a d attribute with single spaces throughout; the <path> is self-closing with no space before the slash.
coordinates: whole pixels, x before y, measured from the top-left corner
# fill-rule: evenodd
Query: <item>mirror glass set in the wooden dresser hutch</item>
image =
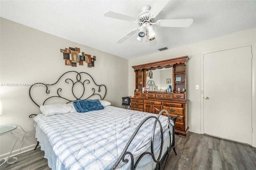
<path id="1" fill-rule="evenodd" d="M 169 85 L 172 86 L 172 67 L 146 70 L 147 91 L 166 91 Z"/>

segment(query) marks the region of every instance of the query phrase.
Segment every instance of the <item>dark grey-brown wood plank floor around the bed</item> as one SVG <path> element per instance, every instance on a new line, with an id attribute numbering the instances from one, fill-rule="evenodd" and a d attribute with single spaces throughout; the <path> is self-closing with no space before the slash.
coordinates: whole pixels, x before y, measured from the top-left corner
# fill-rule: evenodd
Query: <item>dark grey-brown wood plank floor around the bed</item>
<path id="1" fill-rule="evenodd" d="M 175 137 L 178 155 L 171 152 L 166 170 L 256 170 L 256 148 L 250 145 L 193 132 Z M 50 170 L 40 149 L 16 157 L 16 163 L 0 169 Z"/>

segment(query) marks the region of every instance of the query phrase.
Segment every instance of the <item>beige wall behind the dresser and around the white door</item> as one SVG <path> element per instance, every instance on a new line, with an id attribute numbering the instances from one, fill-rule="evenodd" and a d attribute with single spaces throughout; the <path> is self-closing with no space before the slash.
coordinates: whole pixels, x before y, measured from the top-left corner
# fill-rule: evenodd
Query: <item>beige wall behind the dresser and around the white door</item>
<path id="1" fill-rule="evenodd" d="M 253 43 L 254 42 L 254 43 Z M 218 38 L 206 40 L 203 42 L 193 43 L 189 45 L 184 45 L 182 47 L 168 49 L 165 51 L 157 52 L 150 55 L 145 55 L 135 59 L 129 60 L 129 95 L 134 96 L 134 70 L 133 65 L 140 65 L 144 63 L 150 63 L 154 61 L 160 61 L 165 59 L 171 59 L 176 57 L 182 57 L 188 55 L 190 60 L 187 64 L 187 98 L 189 102 L 189 116 L 188 116 L 188 126 L 190 131 L 200 133 L 200 88 L 195 89 L 196 85 L 200 85 L 200 57 L 201 52 L 210 51 L 214 49 L 220 49 L 224 47 L 231 47 L 235 45 L 242 45 L 244 43 L 252 43 L 253 53 L 256 54 L 255 50 L 256 42 L 256 28 L 251 30 L 246 30 L 242 32 L 237 32 L 234 34 L 229 34 L 226 36 L 221 36 Z M 156 50 L 157 51 L 157 50 Z M 227 63 L 228 64 L 228 63 Z M 239 66 L 238 66 L 239 67 Z M 252 60 L 252 82 L 253 82 L 253 99 L 252 102 L 256 103 L 256 59 Z M 252 145 L 256 147 L 256 107 L 255 104 L 252 108 L 252 126 L 254 128 Z"/>

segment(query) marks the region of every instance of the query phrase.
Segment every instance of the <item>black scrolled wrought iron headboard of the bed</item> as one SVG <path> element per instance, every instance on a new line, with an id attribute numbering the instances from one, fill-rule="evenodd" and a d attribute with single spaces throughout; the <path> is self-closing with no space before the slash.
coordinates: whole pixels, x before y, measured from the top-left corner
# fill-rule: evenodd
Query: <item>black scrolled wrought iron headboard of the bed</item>
<path id="1" fill-rule="evenodd" d="M 44 93 L 44 95 L 46 95 L 46 99 L 43 99 L 42 103 L 36 102 L 35 97 L 32 97 L 32 92 L 36 87 L 46 88 Z M 70 91 L 72 93 L 70 93 Z M 77 71 L 68 71 L 62 74 L 56 83 L 32 84 L 29 89 L 29 97 L 33 103 L 40 107 L 40 105 L 46 104 L 50 99 L 61 99 L 64 100 L 65 103 L 92 98 L 103 100 L 106 96 L 106 92 L 106 86 L 96 84 L 90 74 L 85 72 L 78 73 Z"/>

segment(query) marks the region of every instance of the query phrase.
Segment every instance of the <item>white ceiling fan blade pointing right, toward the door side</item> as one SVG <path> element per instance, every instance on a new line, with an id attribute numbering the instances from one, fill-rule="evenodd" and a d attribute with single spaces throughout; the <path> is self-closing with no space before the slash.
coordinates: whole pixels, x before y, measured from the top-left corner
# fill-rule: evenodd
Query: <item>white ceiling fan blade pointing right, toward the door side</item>
<path id="1" fill-rule="evenodd" d="M 158 20 L 157 26 L 160 27 L 189 27 L 193 23 L 193 19 L 178 19 L 178 20 Z"/>

